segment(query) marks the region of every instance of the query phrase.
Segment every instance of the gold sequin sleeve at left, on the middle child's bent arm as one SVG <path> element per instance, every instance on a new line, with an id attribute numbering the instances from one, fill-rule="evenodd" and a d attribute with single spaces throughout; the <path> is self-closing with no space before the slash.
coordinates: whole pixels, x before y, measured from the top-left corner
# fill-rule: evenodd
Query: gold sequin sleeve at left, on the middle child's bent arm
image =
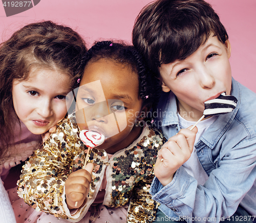
<path id="1" fill-rule="evenodd" d="M 82 166 L 83 145 L 78 128 L 62 121 L 44 146 L 23 166 L 18 182 L 18 195 L 36 211 L 44 211 L 68 219 L 69 210 L 63 198 L 68 175 Z M 71 220 L 72 221 L 72 220 Z"/>

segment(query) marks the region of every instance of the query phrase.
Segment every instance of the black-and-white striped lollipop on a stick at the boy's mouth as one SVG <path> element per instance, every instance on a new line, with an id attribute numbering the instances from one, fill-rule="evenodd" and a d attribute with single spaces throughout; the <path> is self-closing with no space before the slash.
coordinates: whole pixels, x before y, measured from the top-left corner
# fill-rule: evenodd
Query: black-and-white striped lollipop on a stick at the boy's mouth
<path id="1" fill-rule="evenodd" d="M 222 93 L 218 98 L 204 102 L 203 116 L 193 125 L 190 130 L 203 119 L 209 116 L 218 116 L 230 113 L 237 106 L 238 99 L 232 95 Z"/>

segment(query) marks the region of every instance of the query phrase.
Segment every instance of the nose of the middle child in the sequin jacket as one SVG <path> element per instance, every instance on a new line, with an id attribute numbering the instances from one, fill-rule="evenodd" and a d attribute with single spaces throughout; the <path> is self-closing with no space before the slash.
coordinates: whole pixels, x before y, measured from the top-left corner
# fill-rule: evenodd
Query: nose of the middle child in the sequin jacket
<path id="1" fill-rule="evenodd" d="M 92 107 L 84 108 L 84 114 L 87 121 L 107 122 L 107 116 L 109 115 L 108 105 L 106 101 L 98 102 Z"/>

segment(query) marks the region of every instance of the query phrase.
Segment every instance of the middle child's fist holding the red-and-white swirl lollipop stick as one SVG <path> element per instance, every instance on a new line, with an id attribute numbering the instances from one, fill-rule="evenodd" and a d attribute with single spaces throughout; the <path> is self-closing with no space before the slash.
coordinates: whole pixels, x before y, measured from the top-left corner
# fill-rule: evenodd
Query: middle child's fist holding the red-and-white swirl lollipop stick
<path id="1" fill-rule="evenodd" d="M 69 209 L 79 208 L 87 197 L 92 182 L 93 164 L 71 173 L 65 183 L 66 203 Z M 77 202 L 77 205 L 76 205 Z"/>

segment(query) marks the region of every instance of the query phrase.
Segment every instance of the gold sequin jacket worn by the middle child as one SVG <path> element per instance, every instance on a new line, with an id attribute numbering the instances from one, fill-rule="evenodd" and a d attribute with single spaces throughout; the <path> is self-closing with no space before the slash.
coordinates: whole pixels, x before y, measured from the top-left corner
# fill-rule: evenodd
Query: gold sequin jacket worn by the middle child
<path id="1" fill-rule="evenodd" d="M 127 222 L 150 222 L 158 203 L 148 191 L 157 151 L 165 142 L 162 133 L 145 126 L 132 145 L 117 151 L 110 160 L 106 151 L 92 149 L 88 160 L 94 164 L 90 191 L 85 205 L 71 214 L 65 202 L 65 181 L 71 172 L 83 167 L 87 152 L 74 119 L 63 119 L 43 148 L 37 149 L 23 166 L 18 195 L 37 211 L 78 222 L 94 202 L 106 169 L 103 205 L 118 208 L 130 201 Z"/>

